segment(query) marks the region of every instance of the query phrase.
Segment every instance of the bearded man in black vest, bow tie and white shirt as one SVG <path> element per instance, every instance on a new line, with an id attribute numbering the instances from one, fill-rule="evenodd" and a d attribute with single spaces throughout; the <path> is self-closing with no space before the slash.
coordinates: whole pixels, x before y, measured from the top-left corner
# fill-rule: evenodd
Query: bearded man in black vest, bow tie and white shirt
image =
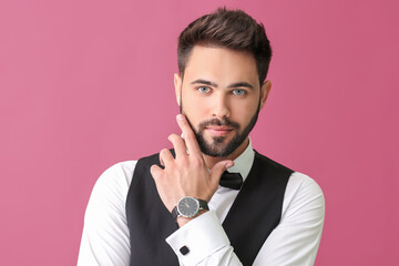
<path id="1" fill-rule="evenodd" d="M 270 91 L 270 57 L 263 25 L 243 11 L 218 9 L 181 33 L 182 135 L 99 178 L 79 265 L 314 264 L 321 190 L 248 137 Z"/>

